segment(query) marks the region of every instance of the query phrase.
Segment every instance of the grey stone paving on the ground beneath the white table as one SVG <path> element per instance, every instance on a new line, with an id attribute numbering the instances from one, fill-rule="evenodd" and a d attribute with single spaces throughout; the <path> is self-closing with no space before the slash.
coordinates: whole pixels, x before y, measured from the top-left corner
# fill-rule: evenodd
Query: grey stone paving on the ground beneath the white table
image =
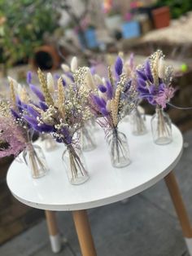
<path id="1" fill-rule="evenodd" d="M 184 138 L 185 148 L 175 174 L 192 222 L 192 130 Z M 88 212 L 98 256 L 189 256 L 163 180 L 124 204 L 117 202 Z M 59 212 L 57 217 L 64 237 L 63 250 L 57 255 L 80 256 L 71 214 Z M 45 220 L 2 245 L 0 255 L 54 255 Z"/>

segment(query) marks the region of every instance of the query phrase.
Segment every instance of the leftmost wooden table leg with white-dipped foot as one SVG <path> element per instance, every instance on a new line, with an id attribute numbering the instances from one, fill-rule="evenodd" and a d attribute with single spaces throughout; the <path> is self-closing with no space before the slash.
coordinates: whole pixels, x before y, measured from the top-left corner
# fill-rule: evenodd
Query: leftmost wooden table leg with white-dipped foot
<path id="1" fill-rule="evenodd" d="M 57 220 L 54 211 L 45 210 L 46 223 L 50 234 L 50 246 L 56 254 L 61 250 L 61 238 L 57 227 Z"/>

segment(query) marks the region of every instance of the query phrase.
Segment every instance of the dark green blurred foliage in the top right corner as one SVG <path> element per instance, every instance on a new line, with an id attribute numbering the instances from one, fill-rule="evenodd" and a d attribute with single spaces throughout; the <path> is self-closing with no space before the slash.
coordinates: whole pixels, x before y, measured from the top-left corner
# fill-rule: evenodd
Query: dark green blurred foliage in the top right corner
<path id="1" fill-rule="evenodd" d="M 158 6 L 170 7 L 172 19 L 177 19 L 187 11 L 192 11 L 192 0 L 159 0 Z"/>

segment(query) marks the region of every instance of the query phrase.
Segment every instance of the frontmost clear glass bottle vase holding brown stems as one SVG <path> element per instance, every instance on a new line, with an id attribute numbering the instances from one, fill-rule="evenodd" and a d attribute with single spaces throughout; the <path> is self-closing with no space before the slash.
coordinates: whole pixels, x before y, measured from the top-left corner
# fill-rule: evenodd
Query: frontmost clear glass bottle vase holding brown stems
<path id="1" fill-rule="evenodd" d="M 78 144 L 68 144 L 63 152 L 62 160 L 68 174 L 68 180 L 72 185 L 85 183 L 89 179 L 83 152 Z"/>

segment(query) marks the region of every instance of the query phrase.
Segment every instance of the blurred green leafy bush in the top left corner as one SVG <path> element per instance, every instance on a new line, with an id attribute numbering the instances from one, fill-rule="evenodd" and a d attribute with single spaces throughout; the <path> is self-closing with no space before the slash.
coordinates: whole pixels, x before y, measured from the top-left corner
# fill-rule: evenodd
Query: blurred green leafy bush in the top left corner
<path id="1" fill-rule="evenodd" d="M 0 63 L 10 66 L 28 60 L 44 33 L 57 28 L 54 0 L 0 0 Z"/>

